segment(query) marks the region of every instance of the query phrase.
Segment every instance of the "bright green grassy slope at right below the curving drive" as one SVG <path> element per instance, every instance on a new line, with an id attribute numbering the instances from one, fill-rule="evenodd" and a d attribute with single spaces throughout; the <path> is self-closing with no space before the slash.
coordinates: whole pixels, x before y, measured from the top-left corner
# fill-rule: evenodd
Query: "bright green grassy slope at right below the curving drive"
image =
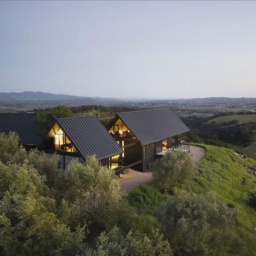
<path id="1" fill-rule="evenodd" d="M 194 193 L 214 191 L 220 201 L 238 209 L 238 234 L 244 240 L 249 255 L 256 255 L 256 211 L 247 204 L 248 191 L 256 190 L 256 178 L 246 172 L 245 166 L 255 166 L 256 161 L 235 156 L 232 150 L 205 146 L 207 156 L 196 170 L 196 179 L 187 185 Z M 245 186 L 240 184 L 246 178 Z"/>

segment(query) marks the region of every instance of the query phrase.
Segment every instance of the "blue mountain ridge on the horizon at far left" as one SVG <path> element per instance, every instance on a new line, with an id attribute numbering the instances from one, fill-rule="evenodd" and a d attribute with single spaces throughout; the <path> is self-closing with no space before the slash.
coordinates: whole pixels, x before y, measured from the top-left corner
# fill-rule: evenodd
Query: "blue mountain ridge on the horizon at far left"
<path id="1" fill-rule="evenodd" d="M 27 100 L 70 100 L 70 99 L 82 99 L 85 97 L 54 94 L 48 92 L 0 92 L 0 100 L 11 101 L 27 101 Z"/>

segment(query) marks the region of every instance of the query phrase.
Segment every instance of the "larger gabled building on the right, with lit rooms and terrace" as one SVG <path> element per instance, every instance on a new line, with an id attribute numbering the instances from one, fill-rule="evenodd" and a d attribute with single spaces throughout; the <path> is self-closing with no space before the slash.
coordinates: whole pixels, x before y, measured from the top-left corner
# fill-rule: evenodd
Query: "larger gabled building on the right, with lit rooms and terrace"
<path id="1" fill-rule="evenodd" d="M 115 159 L 116 165 L 143 172 L 149 170 L 157 154 L 178 147 L 183 133 L 189 131 L 171 109 L 117 113 L 108 128 L 124 149 L 122 156 Z"/>

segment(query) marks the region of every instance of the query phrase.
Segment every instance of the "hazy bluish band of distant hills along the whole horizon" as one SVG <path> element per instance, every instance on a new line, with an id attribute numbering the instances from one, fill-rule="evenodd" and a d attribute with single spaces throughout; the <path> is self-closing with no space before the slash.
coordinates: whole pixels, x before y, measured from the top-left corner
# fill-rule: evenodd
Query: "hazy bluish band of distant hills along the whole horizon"
<path id="1" fill-rule="evenodd" d="M 228 97 L 210 97 L 210 98 L 191 98 L 191 99 L 117 99 L 101 97 L 81 97 L 65 94 L 55 94 L 48 92 L 0 92 L 0 104 L 9 105 L 131 105 L 146 106 L 159 105 L 162 107 L 169 106 L 166 103 L 210 103 L 210 104 L 256 104 L 256 98 L 228 98 Z"/>

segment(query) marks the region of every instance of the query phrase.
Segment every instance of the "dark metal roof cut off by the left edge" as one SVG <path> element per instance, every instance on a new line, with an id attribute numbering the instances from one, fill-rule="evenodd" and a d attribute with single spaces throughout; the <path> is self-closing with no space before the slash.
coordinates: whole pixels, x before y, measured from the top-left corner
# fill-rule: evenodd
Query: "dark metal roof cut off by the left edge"
<path id="1" fill-rule="evenodd" d="M 39 144 L 42 137 L 36 128 L 36 114 L 0 114 L 0 132 L 17 132 L 21 144 Z"/>

